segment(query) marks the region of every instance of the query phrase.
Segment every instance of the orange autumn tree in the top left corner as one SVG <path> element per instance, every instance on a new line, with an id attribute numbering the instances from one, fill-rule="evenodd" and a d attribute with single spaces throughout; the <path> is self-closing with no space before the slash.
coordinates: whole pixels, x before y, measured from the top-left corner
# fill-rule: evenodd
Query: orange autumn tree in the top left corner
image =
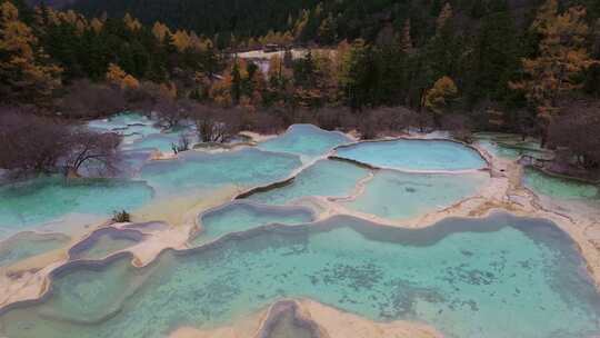
<path id="1" fill-rule="evenodd" d="M 46 105 L 60 86 L 61 68 L 38 46 L 9 1 L 0 3 L 0 91 L 9 99 Z M 6 92 L 4 92 L 6 91 Z"/>

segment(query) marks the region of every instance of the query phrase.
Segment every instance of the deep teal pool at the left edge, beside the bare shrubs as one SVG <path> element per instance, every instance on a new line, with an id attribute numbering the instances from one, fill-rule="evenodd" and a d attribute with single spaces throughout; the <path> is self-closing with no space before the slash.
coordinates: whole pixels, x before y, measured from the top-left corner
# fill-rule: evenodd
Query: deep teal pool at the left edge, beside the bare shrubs
<path id="1" fill-rule="evenodd" d="M 41 226 L 69 213 L 109 216 L 152 198 L 144 182 L 121 179 L 40 177 L 0 186 L 0 237 Z"/>

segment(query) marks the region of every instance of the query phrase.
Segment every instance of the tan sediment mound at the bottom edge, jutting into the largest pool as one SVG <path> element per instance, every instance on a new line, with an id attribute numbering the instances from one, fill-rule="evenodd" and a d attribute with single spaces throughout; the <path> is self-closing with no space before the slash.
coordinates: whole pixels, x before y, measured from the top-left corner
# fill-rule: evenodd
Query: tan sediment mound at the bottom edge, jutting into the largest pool
<path id="1" fill-rule="evenodd" d="M 269 309 L 239 320 L 233 326 L 201 330 L 179 328 L 170 338 L 269 338 L 268 322 L 278 316 L 276 308 L 282 302 L 296 306 L 297 319 L 313 324 L 319 338 L 434 338 L 443 337 L 436 329 L 417 322 L 377 322 L 348 314 L 320 302 L 301 299 L 276 302 Z"/>

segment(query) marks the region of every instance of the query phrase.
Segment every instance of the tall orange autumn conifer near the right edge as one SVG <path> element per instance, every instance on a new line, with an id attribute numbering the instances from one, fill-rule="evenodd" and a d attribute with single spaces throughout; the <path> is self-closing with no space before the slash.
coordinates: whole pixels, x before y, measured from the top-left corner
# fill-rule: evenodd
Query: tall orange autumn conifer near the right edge
<path id="1" fill-rule="evenodd" d="M 548 126 L 560 113 L 559 99 L 580 88 L 577 76 L 598 61 L 586 48 L 589 28 L 584 7 L 571 7 L 559 13 L 558 1 L 548 0 L 538 11 L 531 30 L 541 37 L 539 56 L 522 60 L 527 78 L 511 82 L 510 87 L 523 91 L 536 107 L 546 143 Z"/>

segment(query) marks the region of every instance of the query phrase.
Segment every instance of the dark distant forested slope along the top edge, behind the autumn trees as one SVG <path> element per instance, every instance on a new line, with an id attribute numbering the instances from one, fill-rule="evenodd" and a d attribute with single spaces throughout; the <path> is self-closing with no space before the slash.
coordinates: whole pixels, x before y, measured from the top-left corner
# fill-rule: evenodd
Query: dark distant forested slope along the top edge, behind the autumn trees
<path id="1" fill-rule="evenodd" d="M 238 40 L 272 31 L 300 34 L 303 42 L 331 43 L 342 39 L 372 41 L 389 22 L 401 30 L 412 22 L 417 43 L 434 30 L 434 21 L 444 3 L 450 3 L 466 31 L 480 26 L 486 16 L 509 9 L 522 22 L 543 1 L 540 0 L 80 0 L 74 9 L 91 16 L 123 17 L 130 13 L 142 22 L 161 21 L 170 27 L 198 33 L 219 33 L 223 46 L 231 34 Z M 563 6 L 584 4 L 592 17 L 600 12 L 600 1 L 564 0 Z M 298 32 L 301 29 L 302 32 Z"/>

